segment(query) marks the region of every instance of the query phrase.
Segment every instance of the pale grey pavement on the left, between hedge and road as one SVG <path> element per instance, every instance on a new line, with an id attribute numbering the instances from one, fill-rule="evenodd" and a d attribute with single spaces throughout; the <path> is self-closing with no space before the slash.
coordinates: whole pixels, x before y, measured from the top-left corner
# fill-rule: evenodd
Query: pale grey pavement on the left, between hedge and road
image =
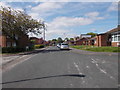
<path id="1" fill-rule="evenodd" d="M 4 72 L 7 69 L 10 69 L 11 67 L 17 65 L 19 62 L 25 61 L 30 57 L 34 56 L 36 53 L 41 52 L 45 49 L 46 48 L 41 48 L 16 54 L 3 54 L 1 55 L 2 60 L 0 62 L 0 69 L 2 69 L 2 71 Z"/>

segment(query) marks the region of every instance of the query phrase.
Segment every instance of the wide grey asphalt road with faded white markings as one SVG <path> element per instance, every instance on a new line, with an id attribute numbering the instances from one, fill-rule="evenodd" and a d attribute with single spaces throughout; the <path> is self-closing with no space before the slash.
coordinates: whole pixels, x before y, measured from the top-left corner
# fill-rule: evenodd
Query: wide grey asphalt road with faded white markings
<path id="1" fill-rule="evenodd" d="M 117 88 L 115 54 L 49 47 L 3 72 L 3 88 Z"/>

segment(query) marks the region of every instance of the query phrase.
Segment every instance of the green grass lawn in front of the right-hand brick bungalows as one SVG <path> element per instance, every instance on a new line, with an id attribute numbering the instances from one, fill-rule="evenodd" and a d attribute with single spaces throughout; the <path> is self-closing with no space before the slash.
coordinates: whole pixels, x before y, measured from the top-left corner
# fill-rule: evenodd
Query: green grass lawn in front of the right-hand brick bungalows
<path id="1" fill-rule="evenodd" d="M 96 47 L 96 46 L 71 46 L 72 48 L 87 50 L 87 51 L 94 51 L 94 52 L 120 52 L 120 47 Z"/>

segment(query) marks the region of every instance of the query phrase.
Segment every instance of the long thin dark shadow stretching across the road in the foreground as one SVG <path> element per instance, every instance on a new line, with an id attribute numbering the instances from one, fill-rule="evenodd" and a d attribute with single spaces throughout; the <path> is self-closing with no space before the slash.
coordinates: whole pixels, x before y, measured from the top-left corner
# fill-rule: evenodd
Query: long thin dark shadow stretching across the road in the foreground
<path id="1" fill-rule="evenodd" d="M 38 80 L 38 79 L 47 79 L 47 78 L 54 78 L 54 77 L 85 77 L 85 75 L 81 75 L 81 74 L 55 75 L 55 76 L 46 76 L 46 77 L 38 77 L 38 78 L 32 78 L 32 79 L 23 79 L 23 80 L 16 80 L 16 81 L 10 81 L 10 82 L 3 82 L 0 84 L 10 84 L 10 83 L 25 82 L 25 81 Z"/>

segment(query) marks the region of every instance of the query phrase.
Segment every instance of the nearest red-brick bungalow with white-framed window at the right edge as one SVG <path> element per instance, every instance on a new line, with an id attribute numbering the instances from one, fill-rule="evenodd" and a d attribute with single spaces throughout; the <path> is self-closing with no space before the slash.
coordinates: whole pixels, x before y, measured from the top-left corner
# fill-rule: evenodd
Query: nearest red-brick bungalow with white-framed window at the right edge
<path id="1" fill-rule="evenodd" d="M 120 47 L 120 27 L 114 28 L 106 33 L 98 34 L 95 38 L 95 46 Z"/>

